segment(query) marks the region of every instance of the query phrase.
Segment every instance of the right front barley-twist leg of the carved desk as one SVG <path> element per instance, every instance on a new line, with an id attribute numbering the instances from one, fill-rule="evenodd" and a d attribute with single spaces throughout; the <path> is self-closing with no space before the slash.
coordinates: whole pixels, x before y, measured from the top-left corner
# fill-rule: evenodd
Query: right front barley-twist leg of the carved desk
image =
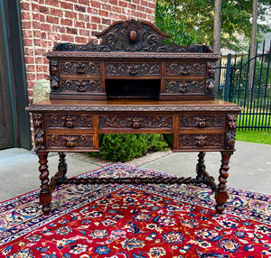
<path id="1" fill-rule="evenodd" d="M 221 214 L 225 209 L 225 203 L 227 202 L 228 194 L 227 194 L 227 179 L 229 177 L 229 158 L 233 152 L 232 151 L 223 151 L 221 152 L 222 160 L 220 166 L 220 177 L 219 177 L 219 187 L 216 191 L 216 211 L 218 214 Z"/>

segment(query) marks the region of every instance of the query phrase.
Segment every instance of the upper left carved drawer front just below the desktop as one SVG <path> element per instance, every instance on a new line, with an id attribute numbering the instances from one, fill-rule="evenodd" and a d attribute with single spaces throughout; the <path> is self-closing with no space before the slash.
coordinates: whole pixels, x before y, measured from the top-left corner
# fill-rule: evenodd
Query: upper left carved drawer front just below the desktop
<path id="1" fill-rule="evenodd" d="M 92 129 L 92 115 L 45 115 L 46 128 L 88 128 Z"/>

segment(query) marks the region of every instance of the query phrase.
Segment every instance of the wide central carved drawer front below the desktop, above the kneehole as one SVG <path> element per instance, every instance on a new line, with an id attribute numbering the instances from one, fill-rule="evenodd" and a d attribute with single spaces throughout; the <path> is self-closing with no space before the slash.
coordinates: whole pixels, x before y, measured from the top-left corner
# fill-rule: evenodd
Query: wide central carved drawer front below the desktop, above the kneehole
<path id="1" fill-rule="evenodd" d="M 99 129 L 173 129 L 173 116 L 166 115 L 101 115 Z"/>

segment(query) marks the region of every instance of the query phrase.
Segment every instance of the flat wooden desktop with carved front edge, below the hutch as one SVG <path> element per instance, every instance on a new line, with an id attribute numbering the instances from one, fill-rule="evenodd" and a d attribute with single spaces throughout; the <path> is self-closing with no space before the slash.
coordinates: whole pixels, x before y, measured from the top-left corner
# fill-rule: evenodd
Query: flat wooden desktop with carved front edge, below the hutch
<path id="1" fill-rule="evenodd" d="M 196 100 L 196 101 L 164 101 L 146 99 L 114 99 L 114 100 L 61 100 L 46 99 L 27 106 L 30 112 L 39 111 L 231 111 L 242 110 L 237 104 L 223 100 Z"/>

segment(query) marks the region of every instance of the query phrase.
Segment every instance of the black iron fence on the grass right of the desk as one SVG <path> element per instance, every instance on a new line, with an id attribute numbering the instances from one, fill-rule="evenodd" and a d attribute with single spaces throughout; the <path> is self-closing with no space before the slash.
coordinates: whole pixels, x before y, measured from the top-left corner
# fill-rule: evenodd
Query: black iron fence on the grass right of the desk
<path id="1" fill-rule="evenodd" d="M 239 130 L 271 128 L 271 42 L 257 55 L 228 55 L 216 70 L 216 97 L 244 108 L 238 115 Z"/>

